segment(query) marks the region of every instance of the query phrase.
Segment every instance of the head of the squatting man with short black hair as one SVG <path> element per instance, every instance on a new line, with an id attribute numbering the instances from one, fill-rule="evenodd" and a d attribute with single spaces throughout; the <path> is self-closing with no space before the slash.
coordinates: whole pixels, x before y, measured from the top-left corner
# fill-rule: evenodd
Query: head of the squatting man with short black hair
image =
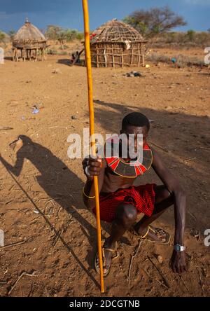
<path id="1" fill-rule="evenodd" d="M 148 132 L 150 130 L 149 120 L 144 114 L 140 112 L 132 112 L 127 114 L 125 118 L 123 118 L 122 122 L 122 130 L 120 134 L 127 135 L 127 144 L 128 146 L 131 144 L 129 139 L 129 134 L 134 134 L 134 151 L 137 152 L 137 134 L 143 135 L 143 146 L 146 144 L 146 139 L 148 137 Z"/>

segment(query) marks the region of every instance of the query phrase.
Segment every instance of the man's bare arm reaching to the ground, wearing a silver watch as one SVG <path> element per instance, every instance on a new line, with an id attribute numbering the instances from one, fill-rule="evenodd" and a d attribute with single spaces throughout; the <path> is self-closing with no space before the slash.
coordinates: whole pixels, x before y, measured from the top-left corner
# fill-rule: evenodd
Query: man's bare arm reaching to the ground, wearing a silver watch
<path id="1" fill-rule="evenodd" d="M 153 170 L 160 177 L 163 184 L 172 195 L 174 195 L 174 218 L 175 218 L 175 235 L 174 244 L 184 244 L 184 231 L 186 224 L 186 194 L 181 188 L 179 181 L 163 165 L 157 151 L 153 149 Z M 174 272 L 183 272 L 186 270 L 185 252 L 174 252 L 172 256 L 172 268 Z"/>

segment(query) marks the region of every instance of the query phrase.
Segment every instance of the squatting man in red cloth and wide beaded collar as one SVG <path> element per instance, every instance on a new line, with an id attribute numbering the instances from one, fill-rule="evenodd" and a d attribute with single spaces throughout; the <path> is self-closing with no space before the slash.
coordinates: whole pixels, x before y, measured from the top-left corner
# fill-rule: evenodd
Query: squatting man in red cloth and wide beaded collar
<path id="1" fill-rule="evenodd" d="M 186 252 L 184 247 L 184 230 L 186 221 L 186 195 L 179 185 L 179 181 L 162 163 L 157 151 L 151 149 L 147 144 L 150 123 L 148 118 L 141 113 L 133 112 L 125 116 L 120 134 L 127 137 L 127 146 L 130 146 L 130 134 L 134 136 L 134 151 L 138 150 L 138 135 L 143 137 L 143 150 L 151 153 L 151 165 L 139 165 L 140 172 L 153 167 L 155 173 L 162 180 L 162 186 L 147 184 L 144 186 L 133 186 L 137 177 L 122 176 L 120 172 L 111 167 L 108 160 L 101 157 L 85 159 L 83 170 L 87 177 L 83 188 L 83 200 L 85 206 L 95 214 L 94 184 L 93 177 L 98 176 L 100 217 L 104 221 L 112 223 L 111 235 L 103 244 L 104 276 L 108 275 L 111 267 L 111 259 L 116 250 L 116 242 L 123 236 L 126 230 L 134 227 L 134 230 L 144 240 L 158 243 L 169 243 L 170 236 L 165 230 L 154 228 L 151 225 L 158 219 L 165 210 L 174 205 L 175 235 L 174 251 L 172 254 L 172 270 L 174 272 L 184 272 L 187 270 Z M 130 151 L 127 158 L 122 157 L 122 146 L 119 148 L 120 165 L 124 165 L 125 170 L 130 169 L 132 157 Z M 148 158 L 147 161 L 150 161 Z M 112 163 L 116 163 L 113 160 Z M 123 164 L 122 164 L 123 163 Z M 146 161 L 145 161 L 146 163 Z M 144 164 L 144 153 L 143 153 Z M 118 167 L 120 167 L 118 165 Z M 116 165 L 115 165 L 116 167 Z M 133 170 L 130 169 L 130 170 Z M 129 174 L 128 174 L 129 175 Z M 131 175 L 131 174 L 130 174 Z M 143 213 L 144 217 L 136 223 L 137 214 Z M 95 258 L 95 268 L 99 272 L 98 254 Z"/>

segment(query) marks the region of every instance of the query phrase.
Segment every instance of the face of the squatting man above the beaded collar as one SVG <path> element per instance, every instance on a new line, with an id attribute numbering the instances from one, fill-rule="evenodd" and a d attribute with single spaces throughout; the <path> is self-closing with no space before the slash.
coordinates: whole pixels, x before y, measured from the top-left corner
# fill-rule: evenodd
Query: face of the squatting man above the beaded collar
<path id="1" fill-rule="evenodd" d="M 132 125 L 127 125 L 127 127 L 125 127 L 125 129 L 120 131 L 120 134 L 125 134 L 125 139 L 127 139 L 127 148 L 132 148 L 134 149 L 134 152 L 137 153 L 138 148 L 141 148 L 143 144 L 143 147 L 146 144 L 146 139 L 148 137 L 148 129 L 146 126 L 144 127 L 137 127 L 137 126 L 132 126 Z M 129 134 L 130 135 L 129 137 Z M 141 139 L 137 139 L 137 135 L 141 134 L 142 135 L 142 140 Z M 123 143 L 123 141 L 122 141 Z M 132 157 L 131 157 L 132 158 Z"/>

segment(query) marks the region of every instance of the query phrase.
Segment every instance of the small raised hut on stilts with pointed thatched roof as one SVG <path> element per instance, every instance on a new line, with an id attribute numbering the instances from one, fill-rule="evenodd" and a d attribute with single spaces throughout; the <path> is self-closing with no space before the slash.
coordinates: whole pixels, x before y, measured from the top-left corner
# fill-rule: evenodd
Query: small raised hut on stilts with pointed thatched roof
<path id="1" fill-rule="evenodd" d="M 34 51 L 36 61 L 38 50 L 41 51 L 41 60 L 44 60 L 45 48 L 45 36 L 29 20 L 26 20 L 25 25 L 18 30 L 13 38 L 13 60 L 18 61 L 18 50 L 20 50 L 24 61 L 26 57 L 31 60 L 31 51 Z"/>

